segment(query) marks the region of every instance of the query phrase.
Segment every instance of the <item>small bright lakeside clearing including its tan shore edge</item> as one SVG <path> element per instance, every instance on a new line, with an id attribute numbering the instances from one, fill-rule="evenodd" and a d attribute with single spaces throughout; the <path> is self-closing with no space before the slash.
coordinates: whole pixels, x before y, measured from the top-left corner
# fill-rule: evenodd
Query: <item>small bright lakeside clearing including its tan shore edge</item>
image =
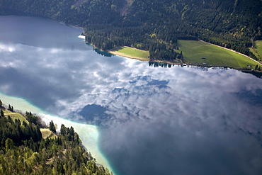
<path id="1" fill-rule="evenodd" d="M 113 55 L 120 55 L 123 57 L 130 57 L 137 60 L 149 61 L 149 52 L 145 50 L 139 50 L 133 47 L 115 47 L 109 51 Z"/>

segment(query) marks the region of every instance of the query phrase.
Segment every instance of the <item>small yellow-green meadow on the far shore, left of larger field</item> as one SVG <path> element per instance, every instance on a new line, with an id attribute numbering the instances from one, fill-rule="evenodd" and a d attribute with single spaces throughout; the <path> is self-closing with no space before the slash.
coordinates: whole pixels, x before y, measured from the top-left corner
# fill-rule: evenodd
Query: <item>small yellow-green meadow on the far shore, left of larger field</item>
<path id="1" fill-rule="evenodd" d="M 141 57 L 141 58 L 145 58 L 148 59 L 149 58 L 149 52 L 146 50 L 139 50 L 133 47 L 127 47 L 127 46 L 123 46 L 123 47 L 115 47 L 113 50 L 110 50 L 113 52 L 119 52 L 120 54 L 124 54 L 124 55 L 130 55 L 131 57 Z"/>

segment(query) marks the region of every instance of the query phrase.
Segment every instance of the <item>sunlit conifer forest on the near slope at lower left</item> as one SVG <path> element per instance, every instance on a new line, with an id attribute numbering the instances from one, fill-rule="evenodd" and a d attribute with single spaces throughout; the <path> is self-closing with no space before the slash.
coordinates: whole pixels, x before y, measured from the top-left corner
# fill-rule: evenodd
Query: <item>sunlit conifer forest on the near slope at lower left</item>
<path id="1" fill-rule="evenodd" d="M 40 118 L 26 112 L 21 123 L 6 115 L 1 101 L 0 108 L 0 174 L 110 174 L 86 152 L 74 128 L 61 125 L 57 134 L 51 121 L 52 137 L 43 139 Z"/>

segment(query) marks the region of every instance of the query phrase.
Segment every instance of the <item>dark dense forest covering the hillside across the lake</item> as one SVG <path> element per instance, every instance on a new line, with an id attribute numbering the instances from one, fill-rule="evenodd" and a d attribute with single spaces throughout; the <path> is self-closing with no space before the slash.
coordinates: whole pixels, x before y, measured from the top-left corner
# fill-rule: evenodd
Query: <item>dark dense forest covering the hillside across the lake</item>
<path id="1" fill-rule="evenodd" d="M 0 0 L 0 14 L 47 16 L 85 28 L 102 50 L 127 45 L 149 50 L 150 60 L 182 60 L 177 40 L 205 40 L 257 59 L 260 0 Z"/>

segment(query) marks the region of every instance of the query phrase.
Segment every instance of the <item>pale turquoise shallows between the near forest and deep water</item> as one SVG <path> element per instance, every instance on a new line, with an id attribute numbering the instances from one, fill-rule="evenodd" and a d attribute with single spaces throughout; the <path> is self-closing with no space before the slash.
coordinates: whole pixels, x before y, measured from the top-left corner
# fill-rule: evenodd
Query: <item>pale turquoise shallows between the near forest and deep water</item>
<path id="1" fill-rule="evenodd" d="M 46 125 L 50 123 L 51 120 L 55 123 L 57 131 L 60 130 L 62 124 L 66 127 L 73 127 L 75 132 L 79 134 L 82 145 L 85 147 L 86 151 L 91 152 L 92 156 L 96 158 L 97 164 L 102 164 L 104 167 L 108 168 L 109 171 L 113 172 L 113 169 L 110 167 L 108 160 L 103 156 L 102 152 L 99 149 L 99 130 L 96 125 L 87 125 L 82 123 L 76 123 L 64 118 L 59 118 L 55 115 L 50 115 L 42 111 L 40 108 L 33 106 L 25 98 L 18 98 L 14 96 L 7 96 L 0 92 L 0 99 L 3 104 L 10 104 L 15 108 L 15 111 L 18 113 L 25 113 L 25 111 L 30 111 L 45 122 Z M 114 174 L 114 172 L 113 172 Z"/>

